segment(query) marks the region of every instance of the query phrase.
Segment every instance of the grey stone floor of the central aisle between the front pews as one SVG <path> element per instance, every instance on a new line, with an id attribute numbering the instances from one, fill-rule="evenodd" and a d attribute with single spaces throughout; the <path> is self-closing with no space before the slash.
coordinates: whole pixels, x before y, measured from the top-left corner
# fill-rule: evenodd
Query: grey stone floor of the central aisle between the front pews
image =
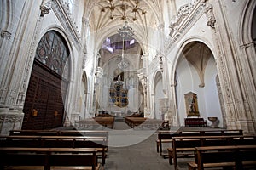
<path id="1" fill-rule="evenodd" d="M 114 128 L 126 128 L 123 122 L 115 122 Z M 174 129 L 174 127 L 172 127 Z M 199 130 L 212 129 L 209 127 L 178 127 L 179 130 Z M 172 129 L 172 130 L 173 130 Z M 176 127 L 177 129 L 177 127 Z M 146 131 L 145 131 L 146 133 Z M 110 137 L 111 138 L 111 137 Z M 108 147 L 108 158 L 104 169 L 106 170 L 172 170 L 173 165 L 170 165 L 168 158 L 163 158 L 156 152 L 155 139 L 157 133 L 153 133 L 138 144 L 129 145 L 126 147 Z M 167 148 L 165 144 L 163 147 Z M 193 161 L 193 158 L 179 158 L 178 169 L 188 169 L 187 161 Z"/>

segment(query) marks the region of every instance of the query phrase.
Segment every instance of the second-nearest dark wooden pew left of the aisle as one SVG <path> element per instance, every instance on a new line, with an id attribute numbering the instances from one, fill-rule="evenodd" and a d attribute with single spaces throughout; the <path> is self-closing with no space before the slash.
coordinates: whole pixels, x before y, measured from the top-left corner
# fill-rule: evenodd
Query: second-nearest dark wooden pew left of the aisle
<path id="1" fill-rule="evenodd" d="M 0 136 L 0 147 L 95 148 L 104 165 L 108 139 L 102 136 Z"/>

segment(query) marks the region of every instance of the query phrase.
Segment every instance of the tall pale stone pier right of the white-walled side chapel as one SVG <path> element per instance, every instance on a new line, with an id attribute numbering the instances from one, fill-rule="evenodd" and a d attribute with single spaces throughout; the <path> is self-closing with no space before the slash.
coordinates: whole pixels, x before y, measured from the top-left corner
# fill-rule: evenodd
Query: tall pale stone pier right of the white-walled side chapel
<path id="1" fill-rule="evenodd" d="M 237 59 L 236 45 L 230 35 L 229 23 L 225 20 L 227 14 L 224 2 L 211 3 L 204 0 L 207 26 L 212 28 L 213 42 L 217 50 L 217 66 L 219 80 L 224 97 L 227 127 L 230 129 L 241 128 L 244 133 L 255 132 L 253 113 L 247 114 L 247 105 L 244 102 L 244 86 L 240 82 L 241 66 Z M 237 67 L 238 65 L 238 67 Z M 232 82 L 231 82 L 232 81 Z"/>

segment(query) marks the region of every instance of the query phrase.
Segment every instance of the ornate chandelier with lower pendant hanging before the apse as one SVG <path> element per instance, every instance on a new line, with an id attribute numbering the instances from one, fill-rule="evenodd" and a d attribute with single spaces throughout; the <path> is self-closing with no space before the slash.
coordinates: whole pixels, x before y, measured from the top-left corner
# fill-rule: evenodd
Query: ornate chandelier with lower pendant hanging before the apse
<path id="1" fill-rule="evenodd" d="M 128 63 L 125 62 L 125 40 L 129 39 L 134 35 L 134 31 L 132 30 L 131 26 L 128 26 L 127 20 L 125 20 L 125 25 L 119 28 L 119 36 L 122 37 L 123 45 L 122 45 L 122 55 L 121 61 L 118 64 L 119 69 L 124 70 L 128 67 Z"/>

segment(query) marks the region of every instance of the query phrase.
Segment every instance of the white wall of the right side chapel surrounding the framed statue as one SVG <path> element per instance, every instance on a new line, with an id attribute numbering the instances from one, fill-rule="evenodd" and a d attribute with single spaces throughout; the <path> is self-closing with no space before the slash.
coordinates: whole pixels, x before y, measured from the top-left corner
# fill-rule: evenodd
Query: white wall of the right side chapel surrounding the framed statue
<path id="1" fill-rule="evenodd" d="M 218 91 L 215 77 L 217 68 L 213 57 L 209 59 L 205 71 L 205 87 L 199 88 L 200 78 L 195 68 L 189 65 L 186 59 L 177 66 L 177 115 L 181 125 L 184 123 L 186 115 L 186 106 L 184 94 L 193 92 L 197 94 L 198 109 L 200 116 L 207 120 L 208 116 L 218 116 L 220 120 L 219 127 L 222 127 L 222 116 L 218 100 Z"/>

